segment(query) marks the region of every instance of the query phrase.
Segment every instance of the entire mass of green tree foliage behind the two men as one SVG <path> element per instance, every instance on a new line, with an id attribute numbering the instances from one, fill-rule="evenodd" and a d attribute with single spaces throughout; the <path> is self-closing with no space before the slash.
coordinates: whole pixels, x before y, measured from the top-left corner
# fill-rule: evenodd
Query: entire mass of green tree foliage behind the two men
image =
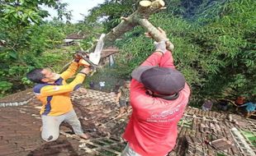
<path id="1" fill-rule="evenodd" d="M 80 47 L 92 47 L 97 35 L 129 16 L 140 0 L 106 0 L 93 7 L 83 22 L 64 23 L 59 16 L 50 22 L 40 8 L 44 4 L 68 16 L 66 4 L 56 1 L 1 1 L 0 3 L 0 89 L 2 93 L 26 86 L 24 74 L 33 67 L 54 66 L 64 55 L 43 53 L 56 48 L 65 34 L 87 35 Z M 149 18 L 166 30 L 175 49 L 173 57 L 192 88 L 192 103 L 204 98 L 256 94 L 255 26 L 253 0 L 166 0 L 166 10 Z M 67 17 L 69 18 L 69 16 Z M 102 30 L 101 23 L 105 30 Z M 120 36 L 116 46 L 116 76 L 130 78 L 130 72 L 153 51 L 153 40 L 140 26 Z M 70 55 L 69 55 L 70 56 Z M 68 55 L 65 57 L 69 57 Z M 111 69 L 112 72 L 112 69 Z M 104 74 L 104 73 L 103 73 Z M 99 76 L 100 77 L 100 76 Z M 22 83 L 21 83 L 22 81 Z"/>

